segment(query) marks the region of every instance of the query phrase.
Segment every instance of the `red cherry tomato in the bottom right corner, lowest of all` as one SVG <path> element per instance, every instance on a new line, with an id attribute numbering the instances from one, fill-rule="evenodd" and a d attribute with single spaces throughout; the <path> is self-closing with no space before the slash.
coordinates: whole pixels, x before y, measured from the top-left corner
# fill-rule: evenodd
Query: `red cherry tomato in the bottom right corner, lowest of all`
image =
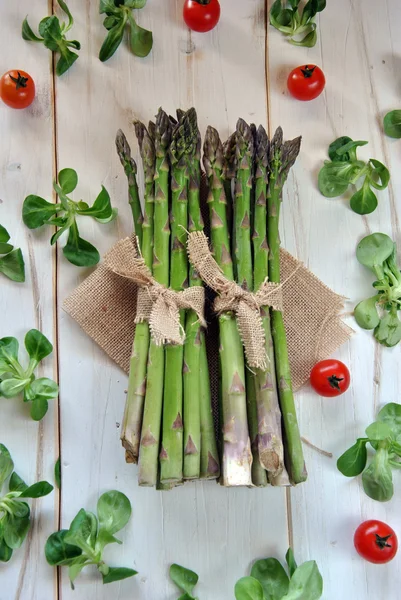
<path id="1" fill-rule="evenodd" d="M 376 564 L 389 562 L 397 554 L 395 531 L 383 521 L 365 521 L 354 534 L 354 546 L 362 558 Z"/>

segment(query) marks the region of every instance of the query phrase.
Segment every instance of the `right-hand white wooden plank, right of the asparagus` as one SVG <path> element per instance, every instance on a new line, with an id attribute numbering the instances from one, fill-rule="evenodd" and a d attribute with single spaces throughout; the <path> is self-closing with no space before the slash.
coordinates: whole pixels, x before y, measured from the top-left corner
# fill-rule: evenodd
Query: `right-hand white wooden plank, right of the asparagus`
<path id="1" fill-rule="evenodd" d="M 310 50 L 291 46 L 269 28 L 272 123 L 280 123 L 287 137 L 304 136 L 284 196 L 283 245 L 350 299 L 346 311 L 352 311 L 371 290 L 372 277 L 355 258 L 358 241 L 370 232 L 383 231 L 400 243 L 400 146 L 382 133 L 383 114 L 400 104 L 396 35 L 400 17 L 395 1 L 328 3 L 318 18 L 318 44 Z M 291 99 L 286 90 L 288 73 L 301 63 L 318 64 L 327 79 L 324 94 L 310 103 Z M 375 157 L 391 168 L 391 186 L 379 192 L 379 208 L 368 217 L 351 212 L 347 199 L 328 200 L 317 190 L 317 173 L 328 144 L 340 135 L 369 140 L 360 156 Z M 399 529 L 397 502 L 381 505 L 370 500 L 361 482 L 343 477 L 335 461 L 363 435 L 380 405 L 398 401 L 400 348 L 379 347 L 371 332 L 361 331 L 353 319 L 349 323 L 356 335 L 337 356 L 351 368 L 350 391 L 335 400 L 319 398 L 308 387 L 297 395 L 303 435 L 331 451 L 334 458 L 305 448 L 309 480 L 291 492 L 295 552 L 299 560 L 318 560 L 325 598 L 396 598 L 397 562 L 378 572 L 357 556 L 352 540 L 366 518 L 381 518 Z"/>

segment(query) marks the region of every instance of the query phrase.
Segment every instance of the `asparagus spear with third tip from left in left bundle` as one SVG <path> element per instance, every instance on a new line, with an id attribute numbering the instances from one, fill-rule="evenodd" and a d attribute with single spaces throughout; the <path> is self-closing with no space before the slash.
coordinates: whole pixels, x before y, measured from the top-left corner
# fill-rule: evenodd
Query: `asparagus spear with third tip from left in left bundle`
<path id="1" fill-rule="evenodd" d="M 154 252 L 153 276 L 165 287 L 169 285 L 169 238 L 168 218 L 169 159 L 171 124 L 167 114 L 159 109 L 155 127 L 155 205 L 154 205 Z M 149 344 L 147 386 L 143 411 L 141 443 L 139 449 L 139 485 L 155 486 L 158 474 L 160 425 L 163 405 L 164 348 Z"/>

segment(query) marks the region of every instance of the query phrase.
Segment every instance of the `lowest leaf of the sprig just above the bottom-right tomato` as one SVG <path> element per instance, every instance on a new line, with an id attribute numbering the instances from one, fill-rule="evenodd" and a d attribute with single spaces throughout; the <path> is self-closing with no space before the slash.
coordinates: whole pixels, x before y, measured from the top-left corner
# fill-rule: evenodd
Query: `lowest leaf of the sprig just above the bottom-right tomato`
<path id="1" fill-rule="evenodd" d="M 394 494 L 393 476 L 388 460 L 387 449 L 378 448 L 373 461 L 362 473 L 365 493 L 379 502 L 388 502 Z"/>

